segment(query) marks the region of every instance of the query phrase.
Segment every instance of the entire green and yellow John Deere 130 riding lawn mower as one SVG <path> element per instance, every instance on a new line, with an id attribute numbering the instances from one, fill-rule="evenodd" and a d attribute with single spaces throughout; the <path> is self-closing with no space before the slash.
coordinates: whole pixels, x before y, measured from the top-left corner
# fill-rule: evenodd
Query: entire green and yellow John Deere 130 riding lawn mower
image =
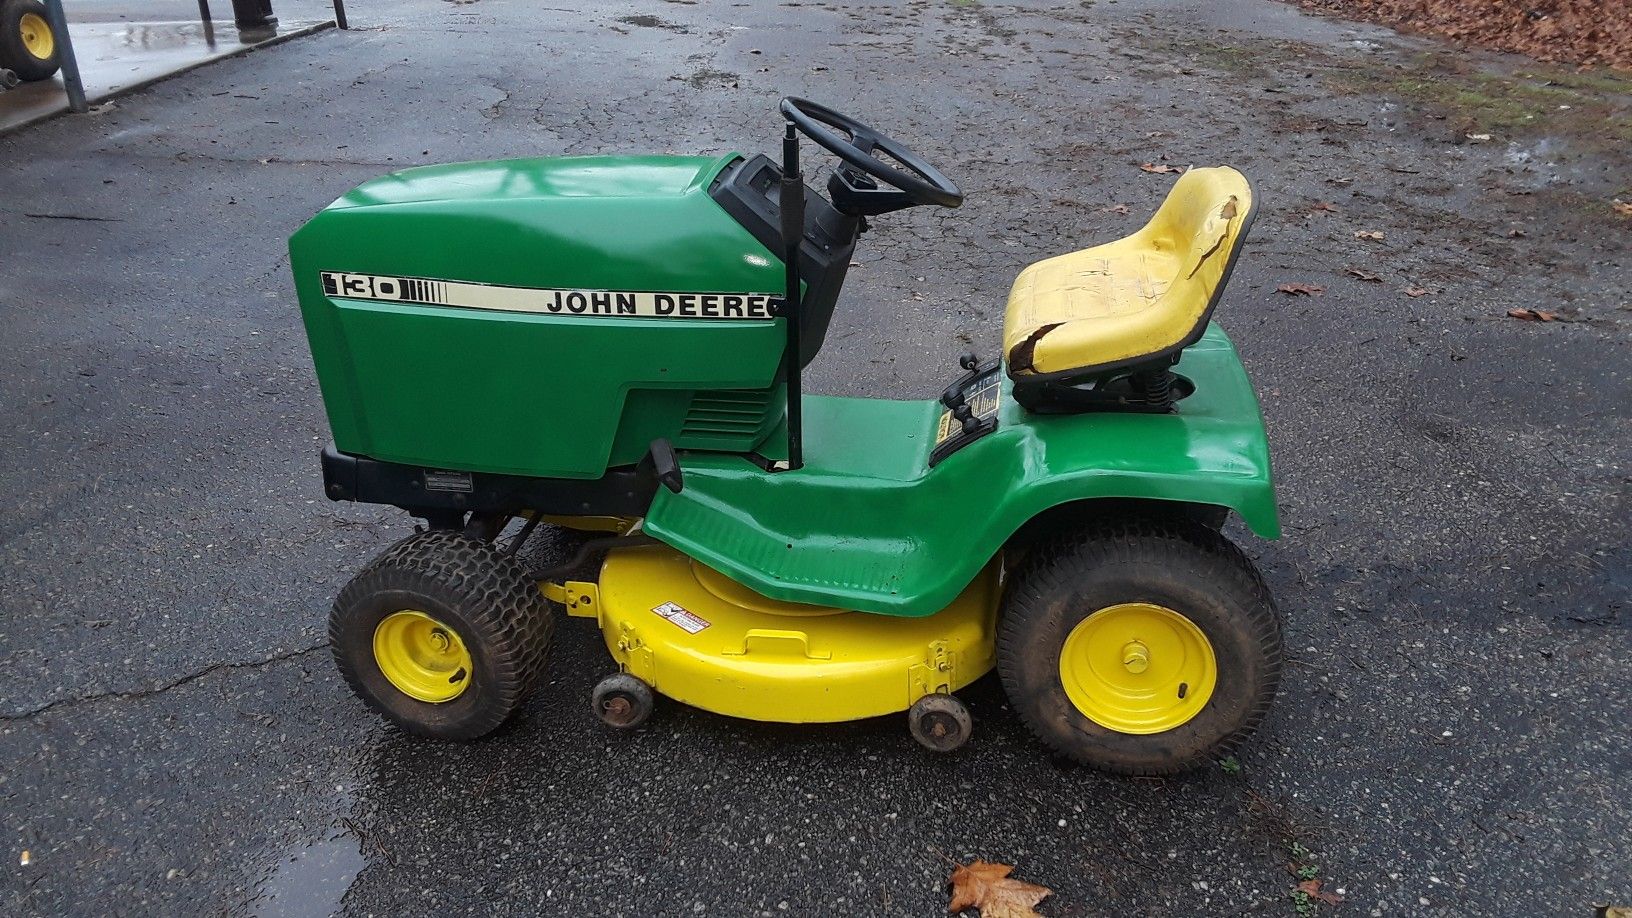
<path id="1" fill-rule="evenodd" d="M 335 603 L 348 684 L 411 733 L 481 737 L 539 684 L 553 603 L 599 626 L 615 671 L 591 704 L 619 729 L 658 694 L 904 711 L 950 751 L 955 693 L 996 668 L 1072 760 L 1227 755 L 1281 675 L 1270 591 L 1219 533 L 1234 511 L 1279 536 L 1258 403 L 1211 323 L 1245 178 L 1190 170 L 1136 234 L 1028 266 L 1002 354 L 961 356 L 938 399 L 806 395 L 868 221 L 963 194 L 854 118 L 782 114 L 780 163 L 411 168 L 294 235 L 328 497 L 424 521 Z M 801 136 L 840 160 L 826 198 Z M 529 568 L 539 526 L 586 536 Z"/>

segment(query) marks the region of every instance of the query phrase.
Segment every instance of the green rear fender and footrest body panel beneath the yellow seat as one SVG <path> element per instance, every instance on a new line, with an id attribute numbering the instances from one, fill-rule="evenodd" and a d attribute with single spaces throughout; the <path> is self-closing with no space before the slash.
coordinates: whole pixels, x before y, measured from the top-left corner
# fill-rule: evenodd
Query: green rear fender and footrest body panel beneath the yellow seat
<path id="1" fill-rule="evenodd" d="M 1170 415 L 1030 415 L 1005 392 L 997 431 L 934 469 L 938 402 L 808 397 L 803 469 L 687 454 L 645 528 L 767 596 L 896 616 L 945 608 L 1023 523 L 1084 498 L 1219 505 L 1279 537 L 1229 338 L 1209 327 L 1175 369 L 1196 392 Z"/>

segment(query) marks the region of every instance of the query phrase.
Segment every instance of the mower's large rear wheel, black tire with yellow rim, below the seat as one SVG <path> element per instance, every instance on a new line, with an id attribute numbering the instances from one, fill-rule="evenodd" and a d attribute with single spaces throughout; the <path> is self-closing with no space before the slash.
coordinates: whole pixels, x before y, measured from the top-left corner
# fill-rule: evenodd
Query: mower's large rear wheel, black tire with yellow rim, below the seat
<path id="1" fill-rule="evenodd" d="M 1173 774 L 1229 755 L 1263 719 L 1281 624 L 1257 568 L 1216 531 L 1128 521 L 1027 559 L 997 670 L 1054 751 L 1118 774 Z"/>

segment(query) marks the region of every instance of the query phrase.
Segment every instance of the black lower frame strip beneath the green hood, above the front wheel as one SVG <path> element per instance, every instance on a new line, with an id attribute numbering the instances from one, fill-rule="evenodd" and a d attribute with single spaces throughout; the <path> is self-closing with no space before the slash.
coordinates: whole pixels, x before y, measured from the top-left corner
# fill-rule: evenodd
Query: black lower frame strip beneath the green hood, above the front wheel
<path id="1" fill-rule="evenodd" d="M 447 513 L 519 513 L 555 516 L 645 516 L 658 479 L 627 466 L 599 479 L 534 479 L 491 472 L 426 469 L 380 462 L 323 448 L 323 493 L 330 500 L 388 503 L 415 516 Z"/>

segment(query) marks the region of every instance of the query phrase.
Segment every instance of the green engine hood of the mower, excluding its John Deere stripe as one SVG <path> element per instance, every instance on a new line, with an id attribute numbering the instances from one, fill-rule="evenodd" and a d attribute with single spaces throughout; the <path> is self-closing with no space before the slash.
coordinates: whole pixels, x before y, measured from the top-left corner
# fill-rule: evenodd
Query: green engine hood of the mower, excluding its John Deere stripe
<path id="1" fill-rule="evenodd" d="M 635 462 L 659 436 L 694 449 L 754 448 L 780 418 L 780 319 L 416 305 L 330 296 L 320 279 L 774 296 L 782 261 L 708 196 L 731 158 L 437 165 L 335 201 L 289 252 L 336 446 L 415 466 L 574 479 Z M 769 415 L 741 413 L 756 400 Z"/>

